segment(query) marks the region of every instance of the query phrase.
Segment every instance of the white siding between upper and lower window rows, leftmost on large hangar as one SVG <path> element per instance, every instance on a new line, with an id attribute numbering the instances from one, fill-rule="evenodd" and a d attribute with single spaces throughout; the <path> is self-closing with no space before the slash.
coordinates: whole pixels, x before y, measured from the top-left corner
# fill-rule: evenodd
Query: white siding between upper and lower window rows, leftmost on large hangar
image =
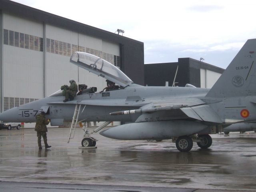
<path id="1" fill-rule="evenodd" d="M 3 55 L 4 96 L 42 98 L 43 52 L 4 45 Z"/>

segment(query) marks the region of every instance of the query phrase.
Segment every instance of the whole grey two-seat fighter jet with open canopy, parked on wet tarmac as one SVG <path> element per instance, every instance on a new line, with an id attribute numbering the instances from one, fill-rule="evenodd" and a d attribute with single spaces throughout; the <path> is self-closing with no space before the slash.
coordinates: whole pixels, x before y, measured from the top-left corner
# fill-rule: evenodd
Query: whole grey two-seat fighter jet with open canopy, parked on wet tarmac
<path id="1" fill-rule="evenodd" d="M 97 56 L 75 52 L 70 62 L 119 86 L 114 90 L 82 91 L 74 100 L 62 102 L 57 92 L 49 97 L 0 114 L 6 122 L 35 122 L 44 110 L 52 126 L 71 122 L 76 106 L 82 107 L 80 122 L 120 121 L 124 124 L 100 132 L 119 140 L 172 139 L 181 152 L 197 142 L 209 148 L 215 134 L 228 124 L 256 121 L 256 39 L 248 40 L 211 89 L 150 87 L 135 84 L 121 70 Z M 129 123 L 125 123 L 129 122 Z M 108 123 L 106 123 L 108 124 Z M 95 146 L 86 134 L 83 146 Z"/>

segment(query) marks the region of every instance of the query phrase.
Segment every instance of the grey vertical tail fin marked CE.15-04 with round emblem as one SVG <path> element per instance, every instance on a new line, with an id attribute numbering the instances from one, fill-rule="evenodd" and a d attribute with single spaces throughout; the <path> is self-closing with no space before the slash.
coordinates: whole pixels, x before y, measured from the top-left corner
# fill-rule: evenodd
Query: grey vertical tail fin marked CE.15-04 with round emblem
<path id="1" fill-rule="evenodd" d="M 206 97 L 256 95 L 256 39 L 247 40 Z"/>

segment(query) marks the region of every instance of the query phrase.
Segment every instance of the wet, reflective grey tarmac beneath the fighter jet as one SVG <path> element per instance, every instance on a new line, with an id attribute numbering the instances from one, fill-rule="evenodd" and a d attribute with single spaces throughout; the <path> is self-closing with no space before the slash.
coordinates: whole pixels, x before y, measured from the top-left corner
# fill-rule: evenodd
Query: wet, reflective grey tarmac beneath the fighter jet
<path id="1" fill-rule="evenodd" d="M 68 144 L 69 131 L 49 128 L 52 148 L 38 150 L 34 129 L 0 130 L 3 191 L 256 191 L 254 132 L 211 135 L 208 150 L 194 143 L 179 152 L 170 140 L 120 141 L 98 133 L 97 148 L 79 149 L 82 129 Z"/>

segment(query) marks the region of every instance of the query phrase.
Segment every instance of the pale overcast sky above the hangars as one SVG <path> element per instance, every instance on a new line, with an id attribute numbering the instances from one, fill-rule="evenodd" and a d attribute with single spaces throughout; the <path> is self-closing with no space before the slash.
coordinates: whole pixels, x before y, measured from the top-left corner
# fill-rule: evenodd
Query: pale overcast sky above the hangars
<path id="1" fill-rule="evenodd" d="M 256 38 L 255 0 L 14 0 L 144 42 L 148 63 L 196 60 L 226 68 Z"/>

